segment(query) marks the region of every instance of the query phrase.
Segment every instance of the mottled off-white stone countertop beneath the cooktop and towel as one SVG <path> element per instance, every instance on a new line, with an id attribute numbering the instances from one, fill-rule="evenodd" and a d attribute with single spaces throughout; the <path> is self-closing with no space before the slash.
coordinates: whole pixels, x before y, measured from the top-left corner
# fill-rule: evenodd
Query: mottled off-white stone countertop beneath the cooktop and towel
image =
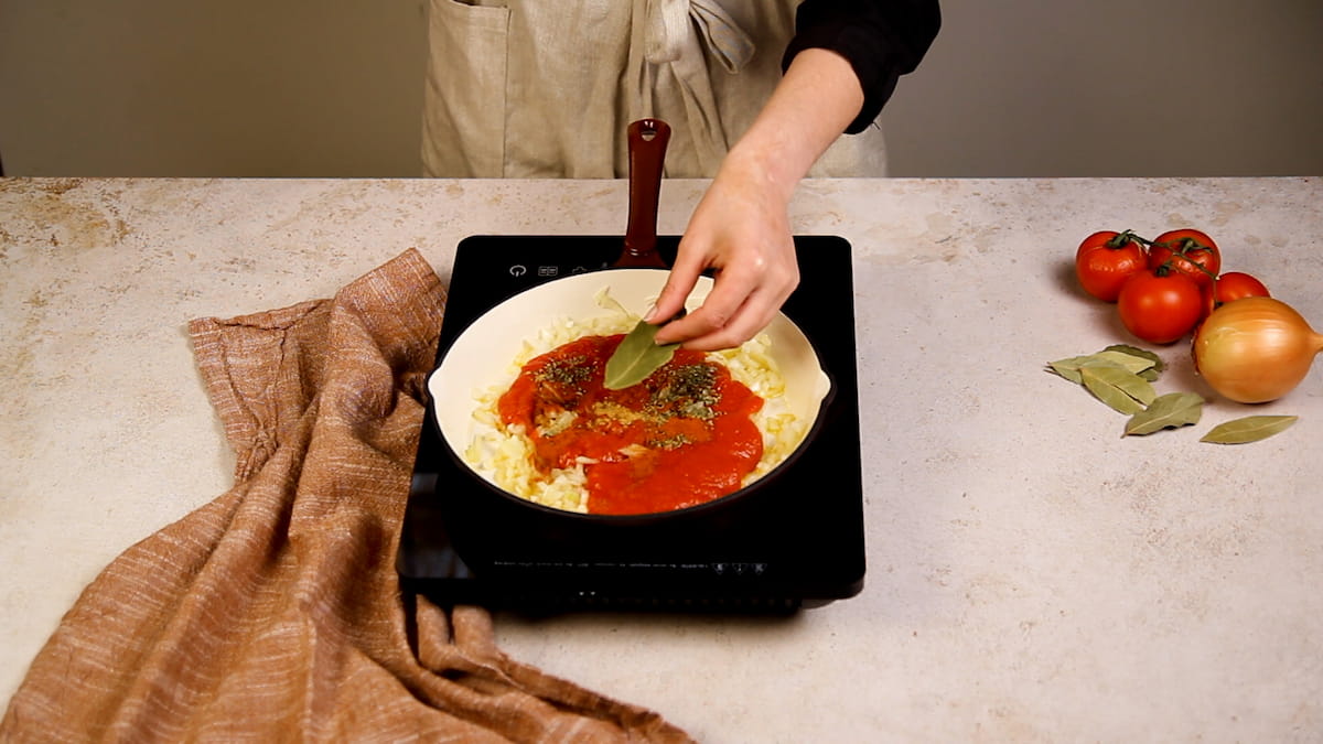
<path id="1" fill-rule="evenodd" d="M 683 232 L 703 181 L 667 181 Z M 0 180 L 0 699 L 79 590 L 229 487 L 194 316 L 327 297 L 479 233 L 620 234 L 623 181 Z M 1097 229 L 1211 233 L 1323 327 L 1323 179 L 823 180 L 855 248 L 868 577 L 789 620 L 497 617 L 513 657 L 712 743 L 1323 737 L 1323 363 L 1246 408 L 1160 348 L 1197 426 L 1044 372 L 1130 340 L 1070 274 Z M 1248 413 L 1301 417 L 1200 443 Z"/>

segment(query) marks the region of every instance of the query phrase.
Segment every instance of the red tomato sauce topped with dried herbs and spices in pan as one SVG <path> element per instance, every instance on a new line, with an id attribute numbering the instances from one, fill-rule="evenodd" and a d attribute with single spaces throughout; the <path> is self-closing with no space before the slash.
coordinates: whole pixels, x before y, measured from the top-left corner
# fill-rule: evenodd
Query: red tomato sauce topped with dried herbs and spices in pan
<path id="1" fill-rule="evenodd" d="M 762 398 L 703 352 L 676 349 L 647 380 L 602 385 L 606 360 L 624 338 L 583 336 L 524 365 L 497 406 L 523 425 L 544 474 L 591 458 L 589 514 L 652 514 L 709 502 L 740 488 L 762 459 L 753 414 Z M 623 451 L 622 451 L 623 450 Z"/>

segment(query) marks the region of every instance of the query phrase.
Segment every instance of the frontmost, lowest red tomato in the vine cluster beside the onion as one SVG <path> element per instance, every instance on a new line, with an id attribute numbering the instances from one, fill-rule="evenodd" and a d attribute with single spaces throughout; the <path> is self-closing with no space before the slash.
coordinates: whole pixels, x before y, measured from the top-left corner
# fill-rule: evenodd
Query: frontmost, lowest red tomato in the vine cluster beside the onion
<path id="1" fill-rule="evenodd" d="M 1117 311 L 1126 330 L 1139 339 L 1170 344 L 1204 316 L 1204 294 L 1180 271 L 1147 269 L 1121 287 Z"/>

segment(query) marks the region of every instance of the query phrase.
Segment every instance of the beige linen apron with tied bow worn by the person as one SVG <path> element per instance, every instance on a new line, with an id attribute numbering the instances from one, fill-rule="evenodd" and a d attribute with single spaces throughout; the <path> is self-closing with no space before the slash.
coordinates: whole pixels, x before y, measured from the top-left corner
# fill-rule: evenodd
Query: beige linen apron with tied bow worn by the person
<path id="1" fill-rule="evenodd" d="M 671 124 L 668 177 L 710 177 L 781 79 L 798 0 L 429 0 L 423 171 L 628 175 L 626 126 Z M 881 130 L 812 176 L 882 176 Z"/>

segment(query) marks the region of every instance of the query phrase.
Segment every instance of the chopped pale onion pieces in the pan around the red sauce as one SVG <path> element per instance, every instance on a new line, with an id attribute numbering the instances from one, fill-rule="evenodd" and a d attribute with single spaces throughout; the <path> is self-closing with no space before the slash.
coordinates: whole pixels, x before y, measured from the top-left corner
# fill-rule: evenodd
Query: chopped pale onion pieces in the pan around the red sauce
<path id="1" fill-rule="evenodd" d="M 574 467 L 557 469 L 549 475 L 533 467 L 533 442 L 521 426 L 507 428 L 500 421 L 497 401 L 509 389 L 520 369 L 536 356 L 546 353 L 576 339 L 594 335 L 606 336 L 628 332 L 639 320 L 620 307 L 603 290 L 598 294 L 598 304 L 610 312 L 585 319 L 557 319 L 542 328 L 536 338 L 525 340 L 520 353 L 511 361 L 507 375 L 487 391 L 479 392 L 474 406 L 475 436 L 464 450 L 464 461 L 480 475 L 501 488 L 532 502 L 587 512 L 587 491 L 585 490 L 585 462 Z M 708 353 L 709 360 L 720 361 L 730 369 L 730 376 L 744 383 L 763 400 L 762 409 L 753 414 L 753 421 L 762 432 L 762 459 L 745 477 L 744 483 L 757 481 L 786 459 L 799 446 L 807 433 L 808 422 L 799 421 L 785 405 L 785 380 L 769 353 L 770 340 L 758 335 L 736 349 Z"/>

